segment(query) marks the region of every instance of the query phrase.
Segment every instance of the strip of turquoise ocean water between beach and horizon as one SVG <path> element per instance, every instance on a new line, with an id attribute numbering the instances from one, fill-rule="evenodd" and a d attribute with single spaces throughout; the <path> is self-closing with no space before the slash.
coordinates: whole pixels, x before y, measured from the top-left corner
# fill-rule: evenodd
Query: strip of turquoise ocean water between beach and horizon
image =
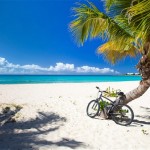
<path id="1" fill-rule="evenodd" d="M 140 76 L 112 75 L 0 75 L 0 84 L 84 83 L 140 81 Z"/>

